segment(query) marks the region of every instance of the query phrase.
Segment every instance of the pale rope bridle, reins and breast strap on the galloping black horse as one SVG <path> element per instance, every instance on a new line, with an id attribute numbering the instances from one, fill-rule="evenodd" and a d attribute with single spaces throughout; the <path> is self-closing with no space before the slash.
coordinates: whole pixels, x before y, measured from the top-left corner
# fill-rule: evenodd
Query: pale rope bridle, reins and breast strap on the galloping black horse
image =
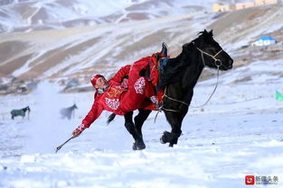
<path id="1" fill-rule="evenodd" d="M 217 88 L 217 85 L 218 85 L 218 80 L 219 80 L 219 67 L 222 66 L 222 60 L 219 59 L 219 58 L 216 58 L 216 57 L 223 51 L 223 49 L 220 49 L 214 56 L 212 56 L 211 54 L 203 51 L 202 49 L 199 49 L 198 47 L 195 47 L 195 48 L 198 49 L 201 52 L 201 54 L 202 54 L 203 66 L 204 67 L 208 67 L 208 66 L 205 65 L 203 54 L 205 54 L 206 56 L 209 56 L 210 58 L 212 58 L 214 60 L 215 66 L 217 67 L 217 81 L 216 81 L 216 85 L 214 86 L 214 89 L 213 89 L 212 94 L 210 95 L 210 97 L 206 100 L 205 103 L 203 103 L 200 106 L 193 106 L 193 105 L 191 105 L 193 108 L 201 108 L 201 107 L 206 105 L 211 100 L 212 95 L 216 91 L 216 88 Z M 167 99 L 169 99 L 171 101 L 174 101 L 174 102 L 177 102 L 177 103 L 181 103 L 181 104 L 184 104 L 184 105 L 187 105 L 187 106 L 190 105 L 189 103 L 185 103 L 184 101 L 180 101 L 180 100 L 177 100 L 177 99 L 174 99 L 174 98 L 168 96 L 166 94 L 166 87 L 165 87 L 165 94 L 162 96 L 162 98 L 167 98 Z M 161 111 L 161 110 L 164 110 L 164 111 L 167 111 L 167 112 L 179 112 L 179 111 L 173 110 L 173 109 L 166 109 L 163 105 L 161 107 L 159 107 L 159 109 L 158 109 L 158 111 Z"/>

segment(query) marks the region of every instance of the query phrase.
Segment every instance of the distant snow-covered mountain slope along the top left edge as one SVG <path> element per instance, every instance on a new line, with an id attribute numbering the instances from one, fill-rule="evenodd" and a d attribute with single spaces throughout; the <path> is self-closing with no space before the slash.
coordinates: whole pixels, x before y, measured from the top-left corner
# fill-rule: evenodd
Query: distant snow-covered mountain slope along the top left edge
<path id="1" fill-rule="evenodd" d="M 0 6 L 0 31 L 62 29 L 199 11 L 211 12 L 212 4 L 216 2 L 231 3 L 229 0 L 10 0 Z"/>

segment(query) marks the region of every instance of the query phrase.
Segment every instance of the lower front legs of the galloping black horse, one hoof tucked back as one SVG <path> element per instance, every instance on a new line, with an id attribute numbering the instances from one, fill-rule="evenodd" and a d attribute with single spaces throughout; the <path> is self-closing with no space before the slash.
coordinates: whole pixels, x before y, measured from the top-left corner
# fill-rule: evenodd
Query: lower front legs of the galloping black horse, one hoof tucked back
<path id="1" fill-rule="evenodd" d="M 182 122 L 186 112 L 165 112 L 165 116 L 169 124 L 171 125 L 171 132 L 165 131 L 160 138 L 162 144 L 169 143 L 169 147 L 173 147 L 177 144 L 179 137 L 181 136 Z"/>

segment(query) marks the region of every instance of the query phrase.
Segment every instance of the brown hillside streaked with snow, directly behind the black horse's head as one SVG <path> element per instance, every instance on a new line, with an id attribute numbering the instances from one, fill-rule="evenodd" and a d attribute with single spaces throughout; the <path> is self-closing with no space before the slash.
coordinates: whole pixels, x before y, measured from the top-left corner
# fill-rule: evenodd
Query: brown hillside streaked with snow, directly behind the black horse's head
<path id="1" fill-rule="evenodd" d="M 203 29 L 213 30 L 215 39 L 235 59 L 236 67 L 255 58 L 280 58 L 280 51 L 255 49 L 250 42 L 261 35 L 282 41 L 282 14 L 282 6 L 269 5 L 228 13 L 182 12 L 131 22 L 2 32 L 0 76 L 24 80 L 76 78 L 88 83 L 93 74 L 110 76 L 119 67 L 160 50 L 162 41 L 175 57 L 182 45 Z"/>

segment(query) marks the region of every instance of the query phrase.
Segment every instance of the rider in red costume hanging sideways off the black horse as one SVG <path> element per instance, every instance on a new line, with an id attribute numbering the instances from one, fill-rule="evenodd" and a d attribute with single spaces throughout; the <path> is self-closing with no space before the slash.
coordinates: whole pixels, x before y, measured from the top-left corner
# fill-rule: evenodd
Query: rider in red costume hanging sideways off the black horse
<path id="1" fill-rule="evenodd" d="M 167 49 L 163 45 L 161 52 L 151 57 L 141 58 L 132 66 L 121 67 L 118 73 L 108 81 L 104 76 L 93 76 L 90 82 L 96 89 L 94 103 L 80 126 L 73 130 L 73 137 L 78 137 L 83 130 L 89 128 L 103 110 L 125 115 L 127 112 L 143 107 L 146 98 L 156 103 L 156 90 L 144 72 L 153 58 L 156 60 L 156 57 L 166 57 L 166 53 Z"/>

